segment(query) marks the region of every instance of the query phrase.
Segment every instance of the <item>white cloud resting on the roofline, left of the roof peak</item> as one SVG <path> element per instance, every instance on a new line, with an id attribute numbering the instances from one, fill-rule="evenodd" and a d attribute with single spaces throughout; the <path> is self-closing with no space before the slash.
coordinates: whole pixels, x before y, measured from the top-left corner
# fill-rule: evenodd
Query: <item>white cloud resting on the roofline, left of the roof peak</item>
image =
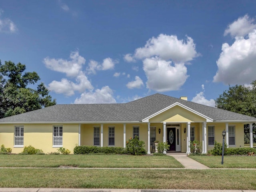
<path id="1" fill-rule="evenodd" d="M 93 103 L 116 103 L 113 97 L 113 91 L 104 86 L 101 89 L 96 89 L 95 92 L 84 92 L 80 98 L 76 98 L 75 104 L 93 104 Z"/>

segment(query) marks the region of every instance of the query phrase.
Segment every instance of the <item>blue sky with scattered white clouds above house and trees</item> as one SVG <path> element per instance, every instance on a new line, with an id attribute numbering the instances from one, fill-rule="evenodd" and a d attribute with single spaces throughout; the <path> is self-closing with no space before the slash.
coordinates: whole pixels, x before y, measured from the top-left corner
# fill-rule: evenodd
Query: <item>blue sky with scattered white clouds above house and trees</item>
<path id="1" fill-rule="evenodd" d="M 0 1 L 0 60 L 58 104 L 161 93 L 214 106 L 256 79 L 256 1 Z"/>

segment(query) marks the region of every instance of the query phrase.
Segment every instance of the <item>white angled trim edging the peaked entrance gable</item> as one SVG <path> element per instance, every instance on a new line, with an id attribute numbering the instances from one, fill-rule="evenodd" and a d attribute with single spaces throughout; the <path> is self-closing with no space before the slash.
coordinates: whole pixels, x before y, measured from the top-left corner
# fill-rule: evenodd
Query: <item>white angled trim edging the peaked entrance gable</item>
<path id="1" fill-rule="evenodd" d="M 188 111 L 190 111 L 190 112 L 192 112 L 192 113 L 194 113 L 194 114 L 196 114 L 196 115 L 198 115 L 198 116 L 200 116 L 202 118 L 205 118 L 206 122 L 213 122 L 213 119 L 211 119 L 211 118 L 205 116 L 204 114 L 201 114 L 201 113 L 199 113 L 199 112 L 197 112 L 197 111 L 195 111 L 195 110 L 193 110 L 193 109 L 191 109 L 191 108 L 189 108 L 189 107 L 187 107 L 185 105 L 182 105 L 179 102 L 176 102 L 176 103 L 174 103 L 174 104 L 172 104 L 172 105 L 170 105 L 170 106 L 168 106 L 168 107 L 166 107 L 166 108 L 156 112 L 155 114 L 152 114 L 152 115 L 148 116 L 147 118 L 142 119 L 142 122 L 143 123 L 148 123 L 150 118 L 152 118 L 154 116 L 157 116 L 157 115 L 161 114 L 162 112 L 165 112 L 166 110 L 168 110 L 170 108 L 173 108 L 174 106 L 180 106 L 180 107 L 182 107 L 182 108 L 184 108 L 184 109 L 186 109 L 186 110 L 188 110 Z"/>

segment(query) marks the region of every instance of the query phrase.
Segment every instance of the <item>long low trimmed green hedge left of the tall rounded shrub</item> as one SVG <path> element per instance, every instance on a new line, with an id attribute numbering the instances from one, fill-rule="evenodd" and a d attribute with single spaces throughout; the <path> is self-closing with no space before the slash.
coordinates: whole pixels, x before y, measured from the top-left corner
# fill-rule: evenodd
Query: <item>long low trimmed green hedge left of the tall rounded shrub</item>
<path id="1" fill-rule="evenodd" d="M 125 154 L 122 147 L 76 146 L 74 154 Z"/>

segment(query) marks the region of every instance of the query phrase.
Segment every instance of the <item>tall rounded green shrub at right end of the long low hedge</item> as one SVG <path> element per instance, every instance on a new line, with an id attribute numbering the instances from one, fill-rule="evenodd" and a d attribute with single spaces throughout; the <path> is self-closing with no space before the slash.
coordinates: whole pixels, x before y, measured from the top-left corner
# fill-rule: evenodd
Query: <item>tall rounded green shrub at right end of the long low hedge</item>
<path id="1" fill-rule="evenodd" d="M 145 142 L 140 141 L 138 136 L 135 136 L 134 139 L 130 138 L 126 142 L 126 152 L 127 154 L 131 155 L 144 155 L 147 154 L 146 150 L 144 149 Z"/>

